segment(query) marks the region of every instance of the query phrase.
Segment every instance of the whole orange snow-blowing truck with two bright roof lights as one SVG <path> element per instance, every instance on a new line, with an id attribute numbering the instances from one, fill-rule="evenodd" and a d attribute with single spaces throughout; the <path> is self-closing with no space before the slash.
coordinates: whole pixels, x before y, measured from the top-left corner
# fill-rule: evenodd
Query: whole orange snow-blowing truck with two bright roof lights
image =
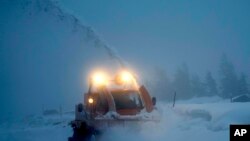
<path id="1" fill-rule="evenodd" d="M 70 123 L 73 136 L 68 140 L 95 141 L 109 127 L 157 122 L 155 105 L 156 98 L 151 98 L 132 73 L 121 71 L 109 78 L 104 72 L 95 72 L 89 77 L 83 103 L 75 106 L 75 119 Z"/>

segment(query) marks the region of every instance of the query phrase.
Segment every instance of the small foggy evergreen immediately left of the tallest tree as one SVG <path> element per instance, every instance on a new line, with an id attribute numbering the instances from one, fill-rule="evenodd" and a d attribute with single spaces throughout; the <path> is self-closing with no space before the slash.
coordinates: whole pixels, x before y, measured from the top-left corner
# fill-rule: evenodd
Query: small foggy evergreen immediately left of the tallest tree
<path id="1" fill-rule="evenodd" d="M 207 96 L 218 95 L 217 84 L 216 84 L 216 81 L 214 80 L 211 72 L 207 72 L 207 74 L 206 74 L 205 86 L 206 86 L 206 95 Z"/>

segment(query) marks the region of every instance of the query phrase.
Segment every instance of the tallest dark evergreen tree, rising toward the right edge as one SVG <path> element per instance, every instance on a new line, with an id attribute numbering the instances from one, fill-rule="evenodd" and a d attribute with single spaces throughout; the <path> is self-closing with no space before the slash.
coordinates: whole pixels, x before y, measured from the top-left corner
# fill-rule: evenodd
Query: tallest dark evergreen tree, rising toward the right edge
<path id="1" fill-rule="evenodd" d="M 220 63 L 220 77 L 221 77 L 221 96 L 230 98 L 237 96 L 238 93 L 238 79 L 232 62 L 228 61 L 224 54 Z"/>

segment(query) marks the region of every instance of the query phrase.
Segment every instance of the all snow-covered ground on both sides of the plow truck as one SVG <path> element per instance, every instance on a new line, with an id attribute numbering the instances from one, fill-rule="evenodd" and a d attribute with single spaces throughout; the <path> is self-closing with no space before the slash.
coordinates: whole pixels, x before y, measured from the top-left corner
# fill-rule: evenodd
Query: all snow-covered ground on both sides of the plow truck
<path id="1" fill-rule="evenodd" d="M 162 113 L 159 123 L 145 123 L 140 129 L 111 128 L 104 141 L 228 141 L 230 124 L 250 123 L 250 103 L 230 103 L 219 98 L 196 98 L 171 104 L 158 103 Z M 1 141 L 67 140 L 72 135 L 68 122 L 73 114 L 30 116 L 20 121 L 3 122 Z"/>

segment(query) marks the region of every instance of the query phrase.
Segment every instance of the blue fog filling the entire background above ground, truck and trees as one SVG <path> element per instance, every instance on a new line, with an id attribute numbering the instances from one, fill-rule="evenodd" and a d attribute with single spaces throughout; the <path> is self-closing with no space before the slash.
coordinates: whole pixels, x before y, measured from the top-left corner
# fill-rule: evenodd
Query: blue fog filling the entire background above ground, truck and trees
<path id="1" fill-rule="evenodd" d="M 218 83 L 223 54 L 237 77 L 249 76 L 249 9 L 247 1 L 1 1 L 0 117 L 73 110 L 96 68 L 125 66 L 160 98 L 159 71 L 172 85 L 185 64 Z"/>

